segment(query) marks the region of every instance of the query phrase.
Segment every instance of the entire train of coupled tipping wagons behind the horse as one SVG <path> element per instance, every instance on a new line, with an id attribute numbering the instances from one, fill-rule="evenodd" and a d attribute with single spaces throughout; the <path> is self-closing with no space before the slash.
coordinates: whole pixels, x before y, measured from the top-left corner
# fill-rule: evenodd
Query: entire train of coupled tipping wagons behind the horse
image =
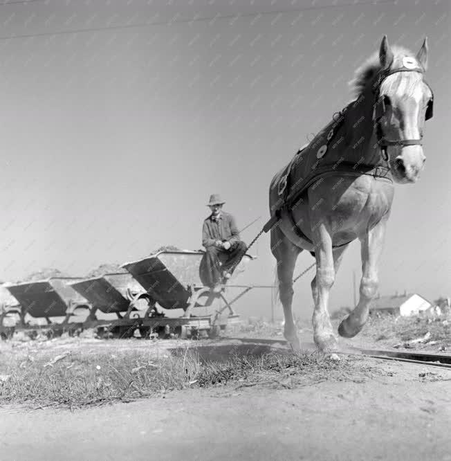
<path id="1" fill-rule="evenodd" d="M 114 273 L 90 278 L 52 276 L 9 284 L 6 289 L 17 302 L 8 314 L 17 315 L 15 329 L 30 338 L 39 333 L 48 338 L 64 332 L 72 336 L 90 328 L 101 337 L 129 338 L 136 331 L 143 337 L 188 338 L 202 332 L 213 337 L 239 320 L 232 304 L 251 287 L 241 287 L 244 290 L 232 300 L 228 287 L 254 258 L 245 255 L 228 286 L 215 292 L 201 282 L 203 254 L 165 250 L 123 264 Z M 225 311 L 228 316 L 224 316 Z M 0 312 L 3 320 L 1 315 L 6 314 Z M 0 334 L 11 337 L 15 329 L 2 325 L 0 322 Z"/>

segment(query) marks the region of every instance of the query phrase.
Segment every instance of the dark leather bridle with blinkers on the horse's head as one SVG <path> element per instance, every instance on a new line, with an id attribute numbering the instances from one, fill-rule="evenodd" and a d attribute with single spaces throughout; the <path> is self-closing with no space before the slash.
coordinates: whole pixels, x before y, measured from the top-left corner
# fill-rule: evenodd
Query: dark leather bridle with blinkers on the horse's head
<path id="1" fill-rule="evenodd" d="M 421 142 L 423 139 L 423 134 L 421 134 L 421 138 L 418 139 L 386 139 L 384 134 L 383 134 L 383 129 L 380 120 L 383 118 L 385 115 L 385 101 L 384 97 L 380 96 L 380 86 L 383 83 L 383 81 L 389 76 L 397 72 L 419 72 L 424 74 L 423 69 L 420 67 L 415 66 L 412 69 L 409 69 L 407 67 L 401 67 L 399 69 L 393 69 L 393 70 L 387 70 L 383 71 L 379 74 L 378 78 L 376 79 L 376 82 L 374 82 L 373 85 L 373 93 L 374 93 L 374 115 L 373 115 L 373 123 L 376 127 L 376 138 L 377 138 L 377 145 L 380 147 L 380 152 L 382 153 L 383 159 L 385 161 L 389 161 L 389 156 L 387 152 L 387 147 L 391 145 L 398 145 L 398 146 L 406 146 L 406 145 L 423 145 Z M 434 93 L 432 92 L 432 89 L 425 80 L 423 80 L 423 83 L 430 89 L 430 92 L 432 94 L 432 98 L 427 102 L 427 109 L 425 113 L 425 120 L 429 120 L 432 118 L 434 115 Z"/>

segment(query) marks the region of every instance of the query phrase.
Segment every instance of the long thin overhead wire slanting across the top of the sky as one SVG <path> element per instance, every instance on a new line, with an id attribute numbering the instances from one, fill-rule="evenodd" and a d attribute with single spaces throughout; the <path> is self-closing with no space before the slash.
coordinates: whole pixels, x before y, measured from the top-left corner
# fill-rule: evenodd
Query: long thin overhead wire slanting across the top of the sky
<path id="1" fill-rule="evenodd" d="M 42 0 L 28 0 L 28 1 L 17 1 L 15 3 L 30 3 L 31 1 L 42 1 Z M 132 28 L 145 28 L 149 26 L 165 26 L 169 24 L 182 24 L 182 23 L 194 23 L 201 21 L 216 21 L 217 19 L 232 19 L 232 18 L 244 18 L 252 16 L 265 16 L 265 15 L 279 15 L 283 13 L 291 12 L 301 12 L 307 10 L 324 10 L 327 8 L 340 8 L 344 6 L 377 6 L 386 3 L 394 4 L 396 0 L 380 0 L 380 1 L 353 1 L 352 3 L 341 3 L 340 5 L 326 5 L 326 6 L 309 6 L 306 8 L 295 8 L 293 10 L 276 10 L 276 11 L 262 11 L 255 13 L 246 13 L 243 15 L 234 14 L 234 15 L 215 15 L 211 17 L 199 17 L 192 19 L 179 19 L 174 21 L 159 21 L 159 22 L 145 22 L 140 24 L 126 24 L 125 26 L 106 26 L 98 28 L 83 28 L 83 29 L 71 29 L 71 30 L 57 30 L 55 32 L 43 32 L 37 34 L 24 34 L 24 35 L 8 35 L 0 37 L 0 40 L 9 40 L 9 39 L 19 39 L 19 38 L 31 38 L 31 37 L 46 37 L 49 35 L 68 35 L 76 33 L 86 33 L 86 32 L 99 32 L 101 30 L 121 30 L 121 29 L 132 29 Z M 1 3 L 1 5 L 12 4 L 12 3 Z"/>

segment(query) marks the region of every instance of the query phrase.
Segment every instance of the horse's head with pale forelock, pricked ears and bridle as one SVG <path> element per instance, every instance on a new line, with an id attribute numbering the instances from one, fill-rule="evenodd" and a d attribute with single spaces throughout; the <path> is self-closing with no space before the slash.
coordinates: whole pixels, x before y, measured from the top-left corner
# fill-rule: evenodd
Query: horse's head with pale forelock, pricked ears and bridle
<path id="1" fill-rule="evenodd" d="M 427 40 L 416 56 L 393 53 L 383 38 L 380 73 L 374 83 L 374 123 L 380 150 L 394 181 L 414 183 L 423 170 L 423 127 L 432 117 L 433 94 L 423 80 Z"/>

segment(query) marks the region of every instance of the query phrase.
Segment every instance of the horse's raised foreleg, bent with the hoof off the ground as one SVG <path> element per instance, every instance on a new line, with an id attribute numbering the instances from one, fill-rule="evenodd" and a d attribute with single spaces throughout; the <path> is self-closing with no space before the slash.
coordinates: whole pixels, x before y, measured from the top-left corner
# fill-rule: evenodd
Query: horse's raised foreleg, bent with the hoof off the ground
<path id="1" fill-rule="evenodd" d="M 378 264 L 383 250 L 386 224 L 386 219 L 381 220 L 374 228 L 368 230 L 365 239 L 362 239 L 360 298 L 356 308 L 338 327 L 338 333 L 345 338 L 356 336 L 367 322 L 369 304 L 378 291 Z"/>

